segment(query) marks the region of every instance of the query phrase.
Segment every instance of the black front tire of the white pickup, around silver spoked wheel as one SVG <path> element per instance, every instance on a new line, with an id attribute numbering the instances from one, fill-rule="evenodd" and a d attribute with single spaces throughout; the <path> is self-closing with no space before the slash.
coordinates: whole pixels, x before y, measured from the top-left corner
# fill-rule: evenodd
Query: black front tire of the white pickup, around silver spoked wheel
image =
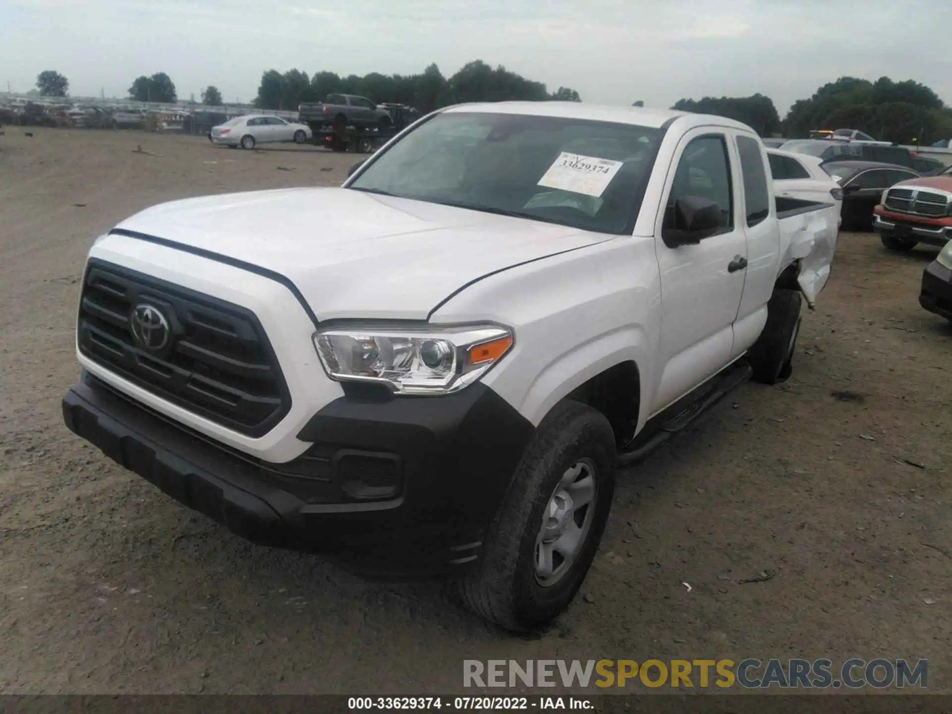
<path id="1" fill-rule="evenodd" d="M 574 511 L 562 523 L 574 521 L 585 535 L 574 555 L 553 569 L 554 581 L 543 585 L 536 557 L 544 514 L 550 500 L 562 493 L 559 488 L 565 475 L 579 465 L 588 469 L 597 487 L 585 510 Z M 578 402 L 565 400 L 554 407 L 513 475 L 503 506 L 488 530 L 479 569 L 460 583 L 464 604 L 513 632 L 554 619 L 585 580 L 605 531 L 614 489 L 615 436 L 608 420 Z M 549 565 L 553 564 L 554 557 Z"/>

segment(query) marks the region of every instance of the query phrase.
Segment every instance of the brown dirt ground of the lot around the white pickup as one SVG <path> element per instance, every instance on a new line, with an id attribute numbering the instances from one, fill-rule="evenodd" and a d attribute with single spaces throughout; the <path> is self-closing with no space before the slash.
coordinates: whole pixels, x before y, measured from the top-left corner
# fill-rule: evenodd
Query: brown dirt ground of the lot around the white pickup
<path id="1" fill-rule="evenodd" d="M 854 656 L 929 658 L 952 692 L 952 326 L 917 302 L 934 251 L 843 234 L 794 377 L 621 474 L 586 597 L 514 638 L 439 586 L 248 545 L 62 424 L 96 235 L 169 199 L 339 184 L 355 157 L 32 131 L 0 137 L 0 692 L 447 693 L 464 659 Z"/>

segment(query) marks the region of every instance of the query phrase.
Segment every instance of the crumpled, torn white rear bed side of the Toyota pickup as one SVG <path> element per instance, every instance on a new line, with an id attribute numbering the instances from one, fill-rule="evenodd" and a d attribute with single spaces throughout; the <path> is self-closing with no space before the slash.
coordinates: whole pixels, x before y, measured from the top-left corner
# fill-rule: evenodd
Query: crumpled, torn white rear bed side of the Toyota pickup
<path id="1" fill-rule="evenodd" d="M 780 221 L 781 265 L 800 260 L 797 283 L 810 309 L 816 306 L 817 295 L 829 280 L 830 266 L 836 252 L 839 219 L 839 211 L 831 206 Z"/>

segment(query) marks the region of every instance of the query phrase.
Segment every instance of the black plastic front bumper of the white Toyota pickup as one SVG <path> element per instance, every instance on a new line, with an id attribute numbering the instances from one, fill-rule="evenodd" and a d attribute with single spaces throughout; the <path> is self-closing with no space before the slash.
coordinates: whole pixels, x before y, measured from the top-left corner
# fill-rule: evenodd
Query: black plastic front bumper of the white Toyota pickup
<path id="1" fill-rule="evenodd" d="M 482 385 L 436 398 L 345 396 L 298 435 L 314 442 L 308 454 L 320 454 L 308 480 L 188 430 L 89 373 L 64 397 L 63 417 L 109 458 L 249 541 L 328 553 L 386 578 L 454 576 L 474 565 L 533 432 Z M 372 487 L 348 486 L 354 469 L 340 465 L 353 454 L 396 469 L 397 490 L 380 500 Z"/>

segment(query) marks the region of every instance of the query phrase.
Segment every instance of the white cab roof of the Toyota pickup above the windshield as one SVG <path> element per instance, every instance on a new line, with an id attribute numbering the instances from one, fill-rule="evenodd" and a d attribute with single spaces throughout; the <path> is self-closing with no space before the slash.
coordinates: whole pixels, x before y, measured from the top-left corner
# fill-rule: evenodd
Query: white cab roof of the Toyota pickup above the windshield
<path id="1" fill-rule="evenodd" d="M 477 111 L 487 114 L 526 114 L 529 116 L 564 116 L 570 119 L 589 119 L 597 122 L 631 124 L 639 127 L 661 129 L 665 122 L 685 117 L 688 126 L 714 125 L 733 129 L 751 130 L 740 122 L 723 116 L 694 114 L 674 109 L 645 109 L 644 107 L 611 107 L 585 102 L 485 102 L 458 104 L 444 109 L 446 112 Z"/>

